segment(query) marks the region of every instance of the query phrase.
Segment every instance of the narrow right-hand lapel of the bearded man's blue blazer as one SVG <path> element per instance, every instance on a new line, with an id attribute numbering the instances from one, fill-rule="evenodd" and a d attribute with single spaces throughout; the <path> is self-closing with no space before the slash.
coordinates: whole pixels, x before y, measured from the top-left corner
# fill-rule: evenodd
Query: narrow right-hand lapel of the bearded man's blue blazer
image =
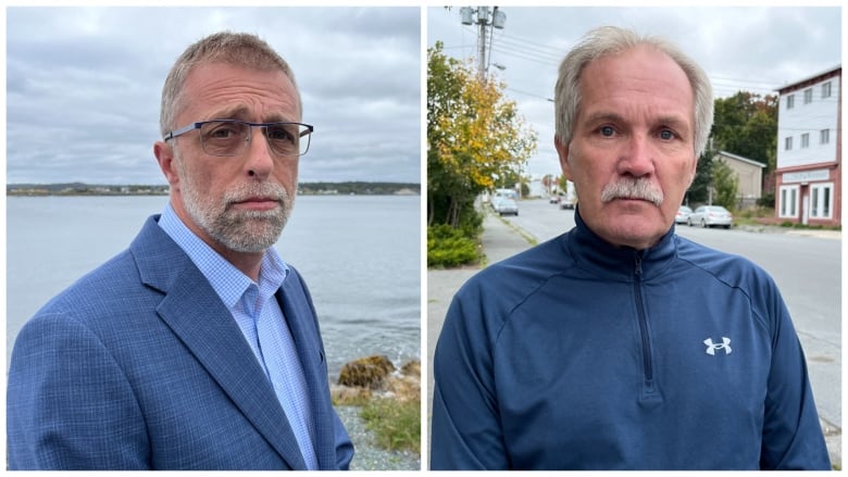
<path id="1" fill-rule="evenodd" d="M 312 418 L 315 424 L 315 454 L 319 468 L 335 469 L 336 444 L 333 405 L 329 401 L 326 359 L 317 328 L 315 311 L 299 274 L 294 268 L 277 293 L 283 313 L 295 339 L 298 357 L 309 388 Z"/>

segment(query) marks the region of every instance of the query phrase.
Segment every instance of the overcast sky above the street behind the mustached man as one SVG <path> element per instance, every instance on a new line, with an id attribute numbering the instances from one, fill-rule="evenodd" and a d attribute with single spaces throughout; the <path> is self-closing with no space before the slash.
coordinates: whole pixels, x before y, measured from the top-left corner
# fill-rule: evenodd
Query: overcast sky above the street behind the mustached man
<path id="1" fill-rule="evenodd" d="M 523 8 L 503 7 L 495 29 L 489 73 L 507 83 L 507 96 L 539 134 L 533 174 L 559 175 L 553 149 L 553 86 L 568 50 L 590 28 L 616 25 L 675 41 L 710 76 L 718 97 L 739 90 L 761 95 L 841 62 L 839 8 Z M 460 22 L 459 8 L 427 9 L 427 47 L 436 40 L 454 58 L 477 57 L 479 27 Z M 476 65 L 476 63 L 474 63 Z"/>

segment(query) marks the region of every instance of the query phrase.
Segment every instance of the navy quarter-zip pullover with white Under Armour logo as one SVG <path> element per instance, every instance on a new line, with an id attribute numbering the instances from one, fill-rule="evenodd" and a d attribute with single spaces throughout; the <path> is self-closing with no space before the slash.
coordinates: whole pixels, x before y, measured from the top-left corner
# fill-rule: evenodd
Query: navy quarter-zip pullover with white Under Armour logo
<path id="1" fill-rule="evenodd" d="M 433 469 L 830 469 L 772 278 L 674 227 L 576 227 L 457 293 L 434 363 Z"/>

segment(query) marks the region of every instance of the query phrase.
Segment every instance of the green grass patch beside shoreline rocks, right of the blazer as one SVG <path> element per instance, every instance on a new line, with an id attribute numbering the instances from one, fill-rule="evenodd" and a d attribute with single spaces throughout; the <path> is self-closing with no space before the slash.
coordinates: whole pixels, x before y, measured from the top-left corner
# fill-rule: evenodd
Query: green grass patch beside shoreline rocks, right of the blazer
<path id="1" fill-rule="evenodd" d="M 360 415 L 379 447 L 421 452 L 421 401 L 376 398 L 362 406 Z"/>

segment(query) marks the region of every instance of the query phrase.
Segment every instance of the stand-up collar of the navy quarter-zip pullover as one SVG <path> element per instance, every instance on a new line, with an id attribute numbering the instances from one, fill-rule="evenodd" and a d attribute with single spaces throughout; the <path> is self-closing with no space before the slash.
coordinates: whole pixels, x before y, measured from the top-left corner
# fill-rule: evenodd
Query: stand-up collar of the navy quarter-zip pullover
<path id="1" fill-rule="evenodd" d="M 648 280 L 668 268 L 677 254 L 673 224 L 656 246 L 636 250 L 614 247 L 600 238 L 583 222 L 579 206 L 574 212 L 574 222 L 576 226 L 566 234 L 572 258 L 578 266 L 602 277 L 631 281 L 638 271 Z"/>

